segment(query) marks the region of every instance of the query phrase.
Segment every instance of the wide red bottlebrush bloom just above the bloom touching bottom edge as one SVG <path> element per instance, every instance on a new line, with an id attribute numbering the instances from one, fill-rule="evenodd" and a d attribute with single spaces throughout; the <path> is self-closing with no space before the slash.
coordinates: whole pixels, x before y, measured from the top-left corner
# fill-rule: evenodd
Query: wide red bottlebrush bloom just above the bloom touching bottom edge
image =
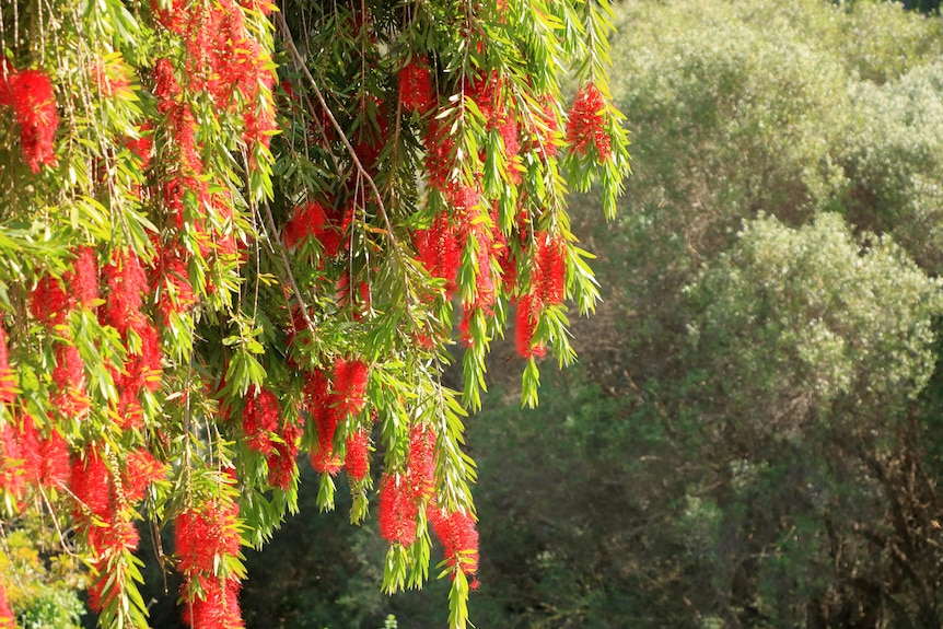
<path id="1" fill-rule="evenodd" d="M 240 552 L 238 505 L 212 500 L 177 515 L 174 550 L 184 575 L 216 574 L 224 558 Z"/>

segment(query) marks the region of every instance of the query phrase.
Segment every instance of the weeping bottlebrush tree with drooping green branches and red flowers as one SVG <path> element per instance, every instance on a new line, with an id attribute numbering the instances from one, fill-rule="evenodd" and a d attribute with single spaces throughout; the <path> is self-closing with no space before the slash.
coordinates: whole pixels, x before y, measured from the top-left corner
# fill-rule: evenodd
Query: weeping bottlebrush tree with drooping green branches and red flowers
<path id="1" fill-rule="evenodd" d="M 3 2 L 4 529 L 43 513 L 110 628 L 147 627 L 139 528 L 172 527 L 184 617 L 242 627 L 240 548 L 303 455 L 322 509 L 339 478 L 374 505 L 384 590 L 439 539 L 465 626 L 489 343 L 513 326 L 534 405 L 597 299 L 566 199 L 612 216 L 628 173 L 610 28 L 596 0 Z"/>

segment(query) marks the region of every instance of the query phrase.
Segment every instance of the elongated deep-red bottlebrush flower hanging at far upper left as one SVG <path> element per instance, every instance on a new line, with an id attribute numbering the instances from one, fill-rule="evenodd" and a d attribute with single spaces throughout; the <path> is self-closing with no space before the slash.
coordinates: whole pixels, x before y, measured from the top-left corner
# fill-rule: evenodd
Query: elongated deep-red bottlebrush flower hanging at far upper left
<path id="1" fill-rule="evenodd" d="M 24 70 L 10 80 L 10 104 L 20 124 L 20 150 L 34 173 L 39 164 L 56 165 L 53 141 L 59 127 L 56 96 L 49 78 L 39 70 Z"/>

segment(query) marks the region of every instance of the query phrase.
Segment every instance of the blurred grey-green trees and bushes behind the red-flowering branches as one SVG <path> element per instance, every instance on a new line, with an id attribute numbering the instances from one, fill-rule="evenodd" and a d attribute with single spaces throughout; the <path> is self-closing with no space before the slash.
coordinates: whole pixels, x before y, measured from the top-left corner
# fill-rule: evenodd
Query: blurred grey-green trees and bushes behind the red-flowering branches
<path id="1" fill-rule="evenodd" d="M 943 625 L 943 23 L 908 7 L 617 8 L 635 175 L 615 223 L 572 208 L 606 301 L 535 411 L 499 346 L 468 422 L 478 627 Z M 305 474 L 247 626 L 444 627 L 443 584 L 381 595 L 384 543 Z M 18 560 L 45 572 L 14 607 L 70 595 Z"/>

